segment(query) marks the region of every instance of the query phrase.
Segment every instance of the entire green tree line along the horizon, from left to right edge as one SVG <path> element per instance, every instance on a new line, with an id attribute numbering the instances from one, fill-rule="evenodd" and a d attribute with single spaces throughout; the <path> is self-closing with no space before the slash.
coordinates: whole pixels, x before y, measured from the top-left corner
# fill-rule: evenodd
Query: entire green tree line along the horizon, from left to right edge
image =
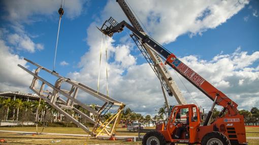
<path id="1" fill-rule="evenodd" d="M 97 110 L 95 108 L 95 104 L 90 104 L 92 108 Z M 76 106 L 77 107 L 77 106 Z M 39 110 L 38 110 L 39 108 Z M 85 110 L 84 108 L 78 106 L 78 110 L 81 112 L 87 114 L 90 116 L 90 113 Z M 15 120 L 15 121 L 36 121 L 36 112 L 38 111 L 38 121 L 39 122 L 53 122 L 56 117 L 54 115 L 57 115 L 57 111 L 50 106 L 48 103 L 44 102 L 43 100 L 39 101 L 23 101 L 21 99 L 11 99 L 11 98 L 0 98 L 0 119 L 1 120 Z M 69 114 L 72 114 L 74 118 L 81 122 L 87 122 L 84 120 L 84 118 L 81 118 L 79 114 L 67 110 Z M 150 122 L 150 121 L 158 121 L 158 120 L 165 120 L 167 118 L 167 108 L 164 104 L 161 106 L 158 110 L 156 110 L 156 114 L 154 117 L 151 117 L 150 115 L 143 116 L 142 114 L 135 113 L 131 108 L 127 107 L 123 110 L 123 113 L 121 114 L 121 120 L 122 122 Z M 220 111 L 218 111 L 216 108 L 214 108 L 212 120 L 216 119 Z M 250 111 L 247 110 L 240 110 L 239 114 L 244 116 L 244 121 L 246 125 L 259 125 L 258 119 L 259 119 L 259 110 L 257 107 L 252 107 Z M 109 112 L 104 115 L 105 119 L 108 119 L 112 116 L 112 113 Z M 92 119 L 95 119 L 95 116 L 91 116 Z M 63 116 L 63 119 L 59 118 L 59 121 L 69 122 L 69 120 Z"/>

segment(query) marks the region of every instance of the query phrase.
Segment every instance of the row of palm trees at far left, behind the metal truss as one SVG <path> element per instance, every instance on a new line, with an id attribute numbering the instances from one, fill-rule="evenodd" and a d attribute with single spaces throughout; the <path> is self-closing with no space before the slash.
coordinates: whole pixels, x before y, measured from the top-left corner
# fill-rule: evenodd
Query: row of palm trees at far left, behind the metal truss
<path id="1" fill-rule="evenodd" d="M 90 113 L 80 106 L 76 106 L 78 110 L 90 116 Z M 91 104 L 92 108 L 95 108 L 95 104 Z M 38 112 L 38 119 L 36 113 Z M 75 119 L 87 123 L 87 121 L 80 117 L 74 111 L 66 110 L 67 113 L 71 114 Z M 0 98 L 0 119 L 1 120 L 13 120 L 13 121 L 30 121 L 30 122 L 54 122 L 59 120 L 60 122 L 70 121 L 65 116 L 57 117 L 59 113 L 51 105 L 46 103 L 44 100 L 35 101 L 23 101 L 22 99 L 16 98 Z M 59 114 L 60 115 L 60 114 Z M 108 114 L 109 116 L 109 114 Z M 94 119 L 94 116 L 92 116 Z"/>

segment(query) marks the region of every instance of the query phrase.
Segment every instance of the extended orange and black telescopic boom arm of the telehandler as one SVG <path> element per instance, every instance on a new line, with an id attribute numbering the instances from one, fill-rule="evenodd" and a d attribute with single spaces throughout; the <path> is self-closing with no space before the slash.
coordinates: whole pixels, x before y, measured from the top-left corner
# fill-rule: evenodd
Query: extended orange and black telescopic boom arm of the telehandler
<path id="1" fill-rule="evenodd" d="M 149 45 L 154 51 L 159 53 L 166 59 L 166 64 L 170 65 L 174 68 L 179 74 L 181 74 L 185 79 L 187 79 L 191 84 L 196 86 L 200 91 L 202 91 L 206 96 L 208 96 L 211 100 L 215 100 L 215 103 L 223 106 L 223 111 L 220 113 L 222 115 L 225 110 L 228 110 L 229 116 L 234 116 L 237 114 L 237 106 L 238 104 L 223 94 L 221 91 L 212 86 L 208 81 L 202 78 L 199 74 L 189 68 L 186 64 L 180 61 L 173 53 L 166 50 L 163 46 L 159 45 L 157 42 L 152 40 L 147 34 L 144 32 L 138 31 L 136 28 L 131 26 L 125 21 L 117 23 L 114 19 L 112 19 L 111 25 L 107 25 L 107 21 L 101 28 L 101 31 L 112 37 L 113 33 L 121 32 L 124 27 L 130 29 L 134 34 L 136 34 L 143 43 Z"/>

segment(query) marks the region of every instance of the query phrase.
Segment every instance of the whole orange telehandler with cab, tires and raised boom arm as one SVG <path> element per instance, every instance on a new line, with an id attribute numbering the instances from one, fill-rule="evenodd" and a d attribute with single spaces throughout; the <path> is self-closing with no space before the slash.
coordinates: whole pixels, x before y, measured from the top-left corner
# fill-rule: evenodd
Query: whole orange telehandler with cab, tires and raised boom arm
<path id="1" fill-rule="evenodd" d="M 180 61 L 173 53 L 155 42 L 141 28 L 140 24 L 128 8 L 124 0 L 117 0 L 118 4 L 133 24 L 125 21 L 118 23 L 112 17 L 104 22 L 100 30 L 112 37 L 115 32 L 121 32 L 124 27 L 130 29 L 131 37 L 136 44 L 147 45 L 152 51 L 165 59 L 165 63 L 175 69 L 180 75 L 196 86 L 213 104 L 204 122 L 201 122 L 199 108 L 195 104 L 176 105 L 172 108 L 167 123 L 157 126 L 156 131 L 150 131 L 143 137 L 142 144 L 206 144 L 206 145 L 227 145 L 247 144 L 244 117 L 238 113 L 238 104 L 212 86 L 199 74 Z M 222 106 L 222 110 L 214 122 L 210 122 L 215 105 Z M 188 112 L 183 120 L 181 115 Z M 203 125 L 202 125 L 203 123 Z M 179 134 L 179 128 L 184 128 Z"/>

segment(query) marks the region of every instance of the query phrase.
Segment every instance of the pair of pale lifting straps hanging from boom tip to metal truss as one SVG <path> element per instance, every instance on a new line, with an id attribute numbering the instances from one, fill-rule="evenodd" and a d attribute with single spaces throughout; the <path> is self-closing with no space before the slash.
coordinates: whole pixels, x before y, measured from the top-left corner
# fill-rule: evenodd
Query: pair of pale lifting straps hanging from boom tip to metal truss
<path id="1" fill-rule="evenodd" d="M 98 83 L 97 83 L 97 93 L 99 93 L 99 85 L 100 85 L 100 74 L 101 74 L 101 62 L 102 62 L 102 49 L 103 49 L 103 39 L 104 34 L 102 36 L 102 42 L 101 42 L 101 48 L 100 48 L 100 62 L 99 62 L 99 73 L 98 73 Z M 107 35 L 105 35 L 105 53 L 106 53 L 106 93 L 107 96 L 109 96 L 109 89 L 108 89 L 108 53 L 107 53 L 108 47 L 107 47 Z"/>

